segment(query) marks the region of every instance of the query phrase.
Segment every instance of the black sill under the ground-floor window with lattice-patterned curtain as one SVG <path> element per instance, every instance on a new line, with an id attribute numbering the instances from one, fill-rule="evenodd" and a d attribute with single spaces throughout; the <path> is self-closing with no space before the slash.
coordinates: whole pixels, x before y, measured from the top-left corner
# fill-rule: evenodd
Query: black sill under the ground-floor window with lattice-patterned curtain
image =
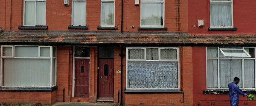
<path id="1" fill-rule="evenodd" d="M 125 90 L 125 94 L 183 93 L 182 90 Z"/>

